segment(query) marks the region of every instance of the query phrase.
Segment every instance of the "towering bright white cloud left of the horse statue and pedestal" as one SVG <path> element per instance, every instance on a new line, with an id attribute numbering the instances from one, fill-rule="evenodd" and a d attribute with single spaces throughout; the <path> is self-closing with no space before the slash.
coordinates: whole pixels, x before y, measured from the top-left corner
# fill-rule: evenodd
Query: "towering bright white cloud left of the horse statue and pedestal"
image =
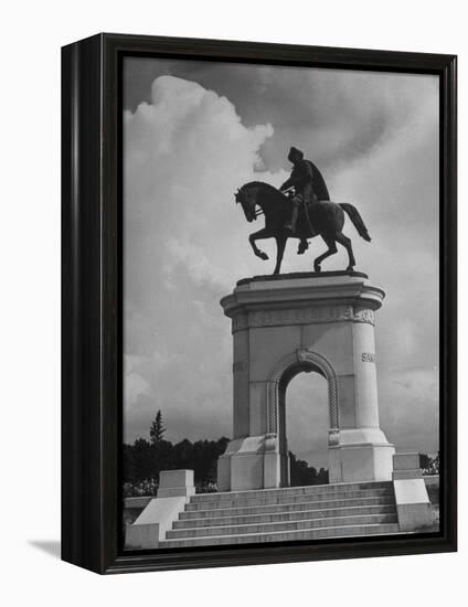
<path id="1" fill-rule="evenodd" d="M 270 125 L 247 128 L 231 102 L 161 76 L 124 116 L 125 351 L 129 439 L 153 415 L 168 437 L 231 433 L 231 336 L 221 297 L 248 274 L 247 228 L 233 192 L 258 178 Z M 140 390 L 140 392 L 138 392 Z M 128 407 L 127 407 L 128 411 Z"/>

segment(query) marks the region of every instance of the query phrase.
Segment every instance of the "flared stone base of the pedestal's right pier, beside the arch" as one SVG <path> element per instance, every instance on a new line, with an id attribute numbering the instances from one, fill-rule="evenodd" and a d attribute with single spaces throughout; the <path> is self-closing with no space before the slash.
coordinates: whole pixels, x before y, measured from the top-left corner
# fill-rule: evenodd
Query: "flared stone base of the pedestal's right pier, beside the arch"
<path id="1" fill-rule="evenodd" d="M 330 482 L 392 480 L 394 452 L 379 428 L 340 430 L 329 447 Z"/>

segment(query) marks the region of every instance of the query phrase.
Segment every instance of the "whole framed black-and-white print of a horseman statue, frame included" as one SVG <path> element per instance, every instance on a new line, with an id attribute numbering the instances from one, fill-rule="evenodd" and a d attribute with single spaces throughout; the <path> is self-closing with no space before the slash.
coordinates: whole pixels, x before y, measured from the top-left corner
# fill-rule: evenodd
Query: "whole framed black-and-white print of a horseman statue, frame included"
<path id="1" fill-rule="evenodd" d="M 456 58 L 62 57 L 63 558 L 456 550 Z"/>

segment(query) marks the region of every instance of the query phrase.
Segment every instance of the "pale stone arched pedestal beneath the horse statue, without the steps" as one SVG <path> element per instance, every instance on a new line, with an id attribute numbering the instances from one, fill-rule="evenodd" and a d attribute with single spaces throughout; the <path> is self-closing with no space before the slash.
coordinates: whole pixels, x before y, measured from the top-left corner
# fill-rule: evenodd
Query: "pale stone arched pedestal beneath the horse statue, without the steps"
<path id="1" fill-rule="evenodd" d="M 384 296 L 365 274 L 334 271 L 240 280 L 221 300 L 232 319 L 234 438 L 219 459 L 220 491 L 289 484 L 285 395 L 304 371 L 328 382 L 330 482 L 392 480 L 375 369 Z"/>

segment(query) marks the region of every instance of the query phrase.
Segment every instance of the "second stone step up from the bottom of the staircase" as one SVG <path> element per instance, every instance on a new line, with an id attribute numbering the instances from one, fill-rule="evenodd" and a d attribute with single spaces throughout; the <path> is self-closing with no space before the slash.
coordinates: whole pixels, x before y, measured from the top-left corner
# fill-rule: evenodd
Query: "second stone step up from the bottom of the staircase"
<path id="1" fill-rule="evenodd" d="M 391 514 L 364 514 L 355 517 L 336 517 L 330 519 L 307 519 L 302 521 L 283 521 L 278 523 L 259 523 L 246 525 L 203 526 L 194 529 L 179 529 L 167 532 L 167 540 L 182 537 L 205 537 L 220 535 L 243 535 L 245 533 L 275 533 L 278 531 L 301 531 L 306 529 L 320 529 L 327 526 L 348 526 L 396 523 L 396 513 Z"/>

